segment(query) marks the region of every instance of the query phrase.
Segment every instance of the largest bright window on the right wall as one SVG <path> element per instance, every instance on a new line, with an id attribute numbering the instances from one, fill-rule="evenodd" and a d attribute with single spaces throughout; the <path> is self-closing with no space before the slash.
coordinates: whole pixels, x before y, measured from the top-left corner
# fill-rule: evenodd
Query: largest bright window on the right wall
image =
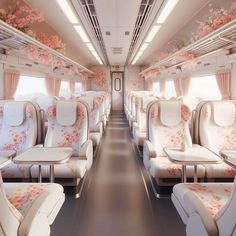
<path id="1" fill-rule="evenodd" d="M 219 100 L 222 98 L 214 75 L 193 77 L 188 94 L 190 97 L 204 100 Z"/>

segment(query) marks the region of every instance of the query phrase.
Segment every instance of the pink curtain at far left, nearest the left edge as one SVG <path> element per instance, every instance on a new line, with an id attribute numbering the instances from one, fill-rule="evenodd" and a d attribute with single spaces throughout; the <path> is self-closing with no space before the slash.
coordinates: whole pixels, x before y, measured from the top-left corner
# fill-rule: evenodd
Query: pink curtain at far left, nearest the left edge
<path id="1" fill-rule="evenodd" d="M 4 75 L 4 98 L 13 99 L 18 83 L 20 79 L 20 73 L 18 71 L 5 71 Z"/>

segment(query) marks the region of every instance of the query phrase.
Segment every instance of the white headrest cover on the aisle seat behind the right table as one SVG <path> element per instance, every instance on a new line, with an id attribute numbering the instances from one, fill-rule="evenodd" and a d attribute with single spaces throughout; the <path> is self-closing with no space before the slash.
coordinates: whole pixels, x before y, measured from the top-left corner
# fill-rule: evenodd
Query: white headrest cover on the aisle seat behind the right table
<path id="1" fill-rule="evenodd" d="M 160 101 L 160 121 L 165 126 L 176 126 L 181 122 L 181 101 Z"/>

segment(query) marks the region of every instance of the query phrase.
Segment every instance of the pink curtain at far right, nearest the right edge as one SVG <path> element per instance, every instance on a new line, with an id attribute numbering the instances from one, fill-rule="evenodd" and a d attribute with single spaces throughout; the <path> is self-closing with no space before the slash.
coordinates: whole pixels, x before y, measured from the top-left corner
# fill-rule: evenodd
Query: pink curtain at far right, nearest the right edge
<path id="1" fill-rule="evenodd" d="M 231 73 L 229 70 L 222 70 L 216 72 L 216 81 L 222 95 L 222 99 L 229 99 L 231 97 L 230 82 Z"/>

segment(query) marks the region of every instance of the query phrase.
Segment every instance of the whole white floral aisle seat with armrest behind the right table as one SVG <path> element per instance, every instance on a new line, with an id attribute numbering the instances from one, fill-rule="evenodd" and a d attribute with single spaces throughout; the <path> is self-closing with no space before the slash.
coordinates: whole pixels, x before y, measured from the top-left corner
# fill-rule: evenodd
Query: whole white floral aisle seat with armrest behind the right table
<path id="1" fill-rule="evenodd" d="M 173 185 L 176 179 L 181 178 L 182 166 L 169 161 L 163 148 L 180 147 L 182 142 L 192 145 L 188 127 L 190 110 L 181 101 L 165 100 L 152 103 L 147 112 L 144 165 L 159 185 Z M 193 177 L 193 173 L 193 167 L 187 166 L 187 177 Z M 199 165 L 198 177 L 204 175 L 205 168 Z"/>

